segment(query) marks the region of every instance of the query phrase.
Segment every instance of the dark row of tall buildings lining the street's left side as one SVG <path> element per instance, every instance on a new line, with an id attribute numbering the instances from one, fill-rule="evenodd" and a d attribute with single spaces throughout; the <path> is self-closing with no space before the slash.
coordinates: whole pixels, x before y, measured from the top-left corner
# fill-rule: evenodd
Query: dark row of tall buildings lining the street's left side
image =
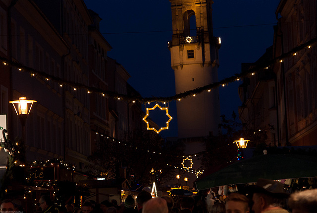
<path id="1" fill-rule="evenodd" d="M 0 66 L 0 114 L 7 115 L 8 138 L 14 141 L 22 128 L 8 101 L 21 96 L 37 101 L 25 125 L 28 162 L 63 158 L 85 171 L 101 137 L 129 140 L 128 130 L 141 127 L 139 119 L 129 128 L 137 122 L 130 118 L 144 114 L 140 104 L 103 95 L 133 88 L 129 73 L 107 57 L 111 46 L 100 21 L 82 0 L 0 1 L 0 57 L 9 62 Z"/>

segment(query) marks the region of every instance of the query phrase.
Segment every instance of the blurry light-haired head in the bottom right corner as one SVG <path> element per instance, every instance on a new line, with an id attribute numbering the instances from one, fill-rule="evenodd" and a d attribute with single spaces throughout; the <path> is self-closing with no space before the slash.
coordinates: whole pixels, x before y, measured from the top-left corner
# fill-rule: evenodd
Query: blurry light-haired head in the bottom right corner
<path id="1" fill-rule="evenodd" d="M 317 189 L 291 194 L 288 206 L 292 213 L 317 213 Z"/>

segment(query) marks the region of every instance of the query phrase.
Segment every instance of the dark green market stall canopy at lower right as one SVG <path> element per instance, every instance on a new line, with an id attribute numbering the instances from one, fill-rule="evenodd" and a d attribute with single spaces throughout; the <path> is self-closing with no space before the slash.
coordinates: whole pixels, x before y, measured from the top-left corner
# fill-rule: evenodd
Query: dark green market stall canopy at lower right
<path id="1" fill-rule="evenodd" d="M 264 154 L 235 162 L 223 169 L 199 178 L 196 189 L 254 183 L 259 178 L 280 180 L 317 176 L 317 157 L 295 154 Z"/>

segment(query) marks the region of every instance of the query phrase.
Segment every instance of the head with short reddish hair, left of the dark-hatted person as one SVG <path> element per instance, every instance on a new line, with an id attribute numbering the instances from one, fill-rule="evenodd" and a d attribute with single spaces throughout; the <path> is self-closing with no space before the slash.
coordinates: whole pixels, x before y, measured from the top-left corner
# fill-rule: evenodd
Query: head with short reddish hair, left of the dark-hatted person
<path id="1" fill-rule="evenodd" d="M 216 205 L 216 204 L 214 204 Z M 226 199 L 225 204 L 226 213 L 249 213 L 249 199 L 241 194 L 232 193 Z"/>

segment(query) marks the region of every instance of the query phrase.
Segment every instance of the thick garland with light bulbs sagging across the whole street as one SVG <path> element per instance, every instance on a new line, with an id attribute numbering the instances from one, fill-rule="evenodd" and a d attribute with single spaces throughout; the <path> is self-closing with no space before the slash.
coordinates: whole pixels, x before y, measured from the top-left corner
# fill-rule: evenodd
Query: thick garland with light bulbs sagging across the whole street
<path id="1" fill-rule="evenodd" d="M 211 89 L 214 88 L 218 88 L 219 86 L 225 86 L 228 85 L 229 83 L 235 82 L 241 78 L 247 77 L 250 74 L 255 74 L 257 71 L 261 71 L 261 70 L 265 70 L 270 68 L 272 65 L 276 64 L 276 63 L 280 63 L 281 61 L 283 62 L 284 59 L 288 58 L 288 57 L 292 57 L 292 56 L 297 56 L 297 54 L 304 49 L 310 49 L 312 48 L 313 45 L 315 45 L 317 42 L 317 38 L 314 38 L 308 42 L 306 42 L 305 44 L 299 45 L 295 48 L 293 48 L 291 51 L 282 54 L 279 57 L 276 57 L 272 60 L 266 61 L 256 67 L 253 67 L 251 69 L 249 69 L 248 71 L 244 71 L 243 73 L 241 72 L 240 74 L 235 74 L 231 77 L 227 77 L 224 78 L 223 80 L 220 80 L 218 82 L 214 82 L 202 87 L 198 87 L 192 90 L 188 90 L 182 93 L 178 93 L 176 95 L 173 96 L 169 96 L 169 97 L 147 97 L 147 98 L 143 98 L 140 96 L 131 96 L 131 95 L 125 95 L 125 94 L 119 94 L 117 92 L 113 92 L 113 91 L 108 91 L 108 90 L 103 90 L 103 89 L 99 89 L 96 87 L 91 87 L 91 86 L 87 86 L 81 83 L 76 83 L 73 81 L 69 81 L 66 79 L 62 79 L 53 75 L 50 75 L 44 71 L 36 71 L 32 68 L 26 67 L 22 64 L 7 60 L 6 58 L 0 57 L 0 60 L 2 61 L 2 65 L 4 66 L 11 66 L 11 67 L 15 67 L 17 70 L 19 71 L 25 71 L 25 72 L 29 72 L 31 74 L 31 76 L 39 76 L 39 77 L 43 77 L 44 79 L 48 78 L 49 81 L 54 81 L 57 82 L 60 86 L 63 85 L 69 85 L 73 88 L 76 89 L 86 89 L 88 91 L 90 91 L 90 93 L 99 93 L 102 94 L 103 96 L 107 96 L 110 98 L 114 98 L 116 100 L 118 100 L 118 98 L 120 98 L 120 100 L 123 101 L 138 101 L 140 103 L 152 103 L 152 102 L 171 102 L 173 100 L 178 100 L 181 101 L 182 98 L 186 98 L 188 96 L 193 96 L 194 94 L 197 95 L 199 93 L 202 93 L 204 91 L 209 91 Z M 296 53 L 296 54 L 295 54 Z"/>

